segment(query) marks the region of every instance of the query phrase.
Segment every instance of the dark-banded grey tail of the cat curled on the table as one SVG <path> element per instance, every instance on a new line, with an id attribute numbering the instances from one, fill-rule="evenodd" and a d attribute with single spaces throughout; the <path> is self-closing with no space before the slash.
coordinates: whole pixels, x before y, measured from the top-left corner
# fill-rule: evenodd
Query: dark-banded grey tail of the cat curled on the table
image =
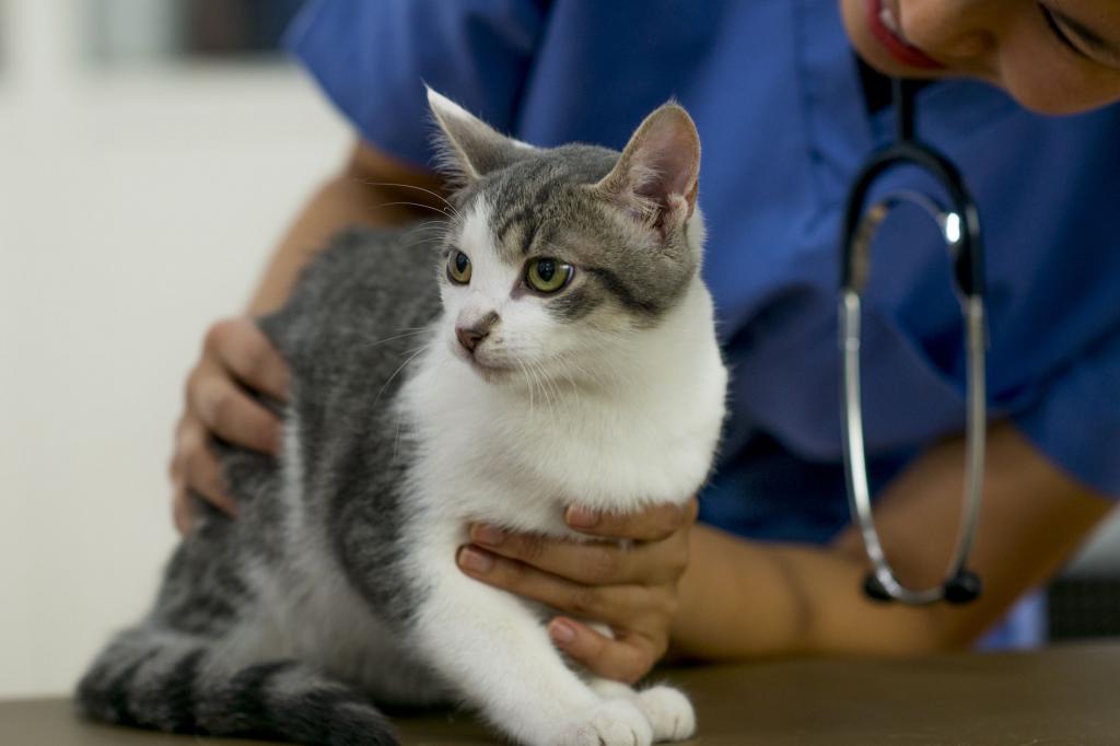
<path id="1" fill-rule="evenodd" d="M 137 627 L 118 635 L 77 688 L 94 719 L 171 733 L 323 746 L 395 746 L 353 688 L 296 661 L 233 666 L 212 641 Z"/>

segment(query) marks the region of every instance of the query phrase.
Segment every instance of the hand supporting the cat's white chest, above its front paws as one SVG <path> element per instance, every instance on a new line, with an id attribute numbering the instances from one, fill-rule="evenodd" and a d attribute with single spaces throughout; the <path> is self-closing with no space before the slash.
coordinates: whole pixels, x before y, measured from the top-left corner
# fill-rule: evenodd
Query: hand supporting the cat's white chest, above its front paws
<path id="1" fill-rule="evenodd" d="M 586 543 L 476 524 L 457 560 L 473 578 L 572 615 L 549 623 L 553 644 L 597 675 L 633 683 L 669 649 L 697 510 L 694 497 L 632 515 L 570 507 L 568 525 L 601 539 Z M 614 638 L 579 619 L 606 624 Z"/>

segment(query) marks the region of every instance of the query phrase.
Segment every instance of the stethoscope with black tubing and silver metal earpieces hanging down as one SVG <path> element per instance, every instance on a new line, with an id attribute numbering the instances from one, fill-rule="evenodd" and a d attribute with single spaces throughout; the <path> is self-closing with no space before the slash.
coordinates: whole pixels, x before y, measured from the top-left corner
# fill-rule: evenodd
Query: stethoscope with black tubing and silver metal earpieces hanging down
<path id="1" fill-rule="evenodd" d="M 920 605 L 946 600 L 967 604 L 981 590 L 980 578 L 968 567 L 976 538 L 983 483 L 987 400 L 984 393 L 984 276 L 983 246 L 976 203 L 960 172 L 944 156 L 918 142 L 914 136 L 914 88 L 894 80 L 896 141 L 874 152 L 852 183 L 844 214 L 843 268 L 840 287 L 840 356 L 844 473 L 848 503 L 859 525 L 871 563 L 865 593 L 877 600 Z M 896 167 L 914 167 L 933 178 L 949 196 L 945 206 L 936 197 L 913 190 L 896 190 L 865 212 L 865 203 L 877 178 Z M 961 300 L 968 355 L 968 430 L 964 479 L 964 515 L 949 572 L 941 585 L 913 589 L 899 582 L 887 561 L 871 515 L 871 496 L 864 450 L 862 400 L 859 390 L 860 299 L 870 271 L 871 241 L 890 209 L 915 205 L 936 222 L 953 262 L 953 285 Z"/>

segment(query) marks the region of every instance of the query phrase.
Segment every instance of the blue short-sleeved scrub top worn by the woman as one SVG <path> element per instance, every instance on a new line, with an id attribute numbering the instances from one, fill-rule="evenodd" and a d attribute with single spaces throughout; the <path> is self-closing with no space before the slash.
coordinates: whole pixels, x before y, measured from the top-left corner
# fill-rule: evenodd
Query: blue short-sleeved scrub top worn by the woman
<path id="1" fill-rule="evenodd" d="M 868 111 L 837 0 L 327 0 L 305 10 L 289 45 L 364 139 L 421 166 L 432 161 L 421 81 L 539 146 L 622 148 L 675 96 L 703 143 L 704 278 L 734 376 L 701 515 L 816 542 L 847 524 L 840 215 L 892 112 Z M 921 91 L 917 112 L 920 133 L 960 165 L 987 232 L 991 417 L 1120 496 L 1120 106 L 1044 118 L 948 81 Z M 913 174 L 894 181 L 921 186 Z M 865 300 L 877 486 L 963 429 L 960 305 L 925 220 L 888 218 Z"/>

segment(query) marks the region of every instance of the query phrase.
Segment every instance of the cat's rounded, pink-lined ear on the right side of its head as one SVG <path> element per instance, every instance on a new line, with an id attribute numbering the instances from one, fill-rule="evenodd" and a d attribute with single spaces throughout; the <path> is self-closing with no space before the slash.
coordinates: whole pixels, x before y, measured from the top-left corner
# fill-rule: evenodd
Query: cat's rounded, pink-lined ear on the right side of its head
<path id="1" fill-rule="evenodd" d="M 696 123 L 670 102 L 645 118 L 614 169 L 592 188 L 664 237 L 692 216 L 699 177 Z"/>

